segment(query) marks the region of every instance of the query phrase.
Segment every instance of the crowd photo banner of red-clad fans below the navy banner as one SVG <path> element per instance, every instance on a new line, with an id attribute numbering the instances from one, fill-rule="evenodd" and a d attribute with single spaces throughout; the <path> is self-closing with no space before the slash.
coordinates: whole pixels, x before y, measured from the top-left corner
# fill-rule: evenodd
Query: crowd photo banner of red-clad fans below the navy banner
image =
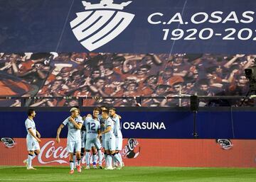
<path id="1" fill-rule="evenodd" d="M 188 98 L 168 97 L 245 96 L 249 81 L 244 69 L 252 67 L 255 57 L 3 52 L 0 54 L 0 94 L 3 97 L 37 97 L 27 99 L 26 106 L 78 106 L 78 99 L 63 98 L 72 96 L 84 98 L 82 106 L 129 107 L 137 106 L 133 97 L 142 96 L 146 97 L 141 101 L 144 107 L 186 107 L 190 105 Z M 240 99 L 202 98 L 199 106 L 239 106 L 240 102 Z M 244 103 L 244 106 L 253 105 L 250 100 Z M 21 106 L 21 101 L 1 99 L 0 106 Z"/>

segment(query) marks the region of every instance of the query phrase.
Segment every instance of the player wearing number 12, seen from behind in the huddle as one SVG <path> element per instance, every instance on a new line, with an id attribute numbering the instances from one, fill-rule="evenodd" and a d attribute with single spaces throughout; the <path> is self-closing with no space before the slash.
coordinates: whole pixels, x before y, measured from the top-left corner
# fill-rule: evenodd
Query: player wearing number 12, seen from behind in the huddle
<path id="1" fill-rule="evenodd" d="M 97 151 L 92 149 L 92 160 L 94 161 L 93 167 L 97 169 L 95 162 L 95 155 L 98 153 L 99 157 L 99 166 L 102 169 L 102 152 L 100 140 L 97 138 L 97 135 L 100 133 L 100 121 L 98 115 L 100 114 L 100 108 L 94 108 L 93 114 L 87 115 L 85 118 L 85 127 L 86 127 L 86 143 L 85 143 L 85 160 L 86 160 L 86 169 L 90 169 L 90 149 L 95 147 Z"/>

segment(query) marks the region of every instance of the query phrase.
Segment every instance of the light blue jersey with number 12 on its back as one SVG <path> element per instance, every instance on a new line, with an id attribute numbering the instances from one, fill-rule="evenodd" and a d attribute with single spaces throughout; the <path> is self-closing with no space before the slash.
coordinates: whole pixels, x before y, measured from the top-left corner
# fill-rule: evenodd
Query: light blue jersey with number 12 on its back
<path id="1" fill-rule="evenodd" d="M 85 118 L 86 138 L 97 138 L 100 122 L 97 119 Z"/>

